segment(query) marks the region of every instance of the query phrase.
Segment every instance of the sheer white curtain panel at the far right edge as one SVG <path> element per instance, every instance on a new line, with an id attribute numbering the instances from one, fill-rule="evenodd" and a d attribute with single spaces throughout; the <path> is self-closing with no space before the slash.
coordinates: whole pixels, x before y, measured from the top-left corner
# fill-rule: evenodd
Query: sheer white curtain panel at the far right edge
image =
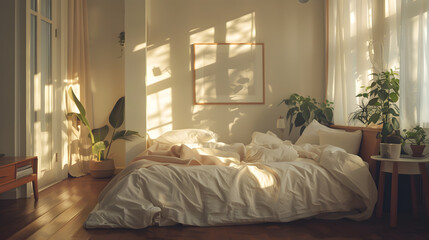
<path id="1" fill-rule="evenodd" d="M 401 127 L 429 127 L 428 0 L 403 0 L 401 9 Z"/>

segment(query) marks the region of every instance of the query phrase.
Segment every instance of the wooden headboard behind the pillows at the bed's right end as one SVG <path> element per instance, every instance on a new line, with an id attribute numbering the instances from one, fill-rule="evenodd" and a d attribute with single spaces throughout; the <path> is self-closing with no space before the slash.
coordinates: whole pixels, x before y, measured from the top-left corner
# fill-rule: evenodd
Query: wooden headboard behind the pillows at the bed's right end
<path id="1" fill-rule="evenodd" d="M 376 161 L 371 159 L 371 156 L 379 154 L 381 139 L 377 138 L 377 133 L 381 131 L 381 128 L 342 125 L 331 125 L 330 127 L 336 129 L 344 129 L 348 132 L 362 130 L 362 141 L 360 143 L 359 156 L 369 164 L 369 170 L 371 172 L 372 178 L 375 180 L 377 173 L 377 165 Z"/>

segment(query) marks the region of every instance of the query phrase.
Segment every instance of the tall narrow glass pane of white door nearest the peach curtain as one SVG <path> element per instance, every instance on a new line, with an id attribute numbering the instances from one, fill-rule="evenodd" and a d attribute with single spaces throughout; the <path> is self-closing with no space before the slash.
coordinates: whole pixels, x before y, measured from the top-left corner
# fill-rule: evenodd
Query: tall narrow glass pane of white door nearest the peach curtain
<path id="1" fill-rule="evenodd" d="M 53 112 L 53 86 L 52 86 L 52 26 L 41 21 L 40 32 L 40 112 L 41 112 L 41 141 L 45 146 L 52 142 L 52 112 Z M 51 168 L 52 148 L 45 148 L 45 161 L 41 161 L 41 169 Z"/>

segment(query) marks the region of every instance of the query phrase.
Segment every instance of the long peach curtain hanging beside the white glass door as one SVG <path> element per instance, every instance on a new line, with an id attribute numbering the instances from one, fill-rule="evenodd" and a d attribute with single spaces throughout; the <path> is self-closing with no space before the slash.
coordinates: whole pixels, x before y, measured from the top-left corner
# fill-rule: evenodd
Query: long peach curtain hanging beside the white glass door
<path id="1" fill-rule="evenodd" d="M 67 77 L 69 86 L 86 109 L 90 125 L 92 118 L 92 96 L 89 82 L 89 37 L 86 0 L 68 1 L 68 58 Z M 77 112 L 74 102 L 67 97 L 67 112 Z M 91 140 L 88 129 L 76 117 L 68 120 L 69 174 L 74 177 L 88 173 L 91 158 Z"/>

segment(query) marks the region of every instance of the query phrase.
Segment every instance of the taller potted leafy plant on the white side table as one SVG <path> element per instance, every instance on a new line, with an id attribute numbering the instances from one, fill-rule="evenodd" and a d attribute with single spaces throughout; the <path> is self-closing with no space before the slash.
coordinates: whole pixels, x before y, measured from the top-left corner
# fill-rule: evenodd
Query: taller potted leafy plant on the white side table
<path id="1" fill-rule="evenodd" d="M 380 73 L 372 73 L 370 85 L 364 87 L 363 93 L 356 97 L 364 100 L 360 109 L 350 116 L 352 120 L 359 120 L 366 125 L 382 125 L 378 137 L 381 138 L 380 155 L 383 158 L 399 158 L 401 153 L 401 135 L 399 126 L 398 73 L 392 69 Z"/>

